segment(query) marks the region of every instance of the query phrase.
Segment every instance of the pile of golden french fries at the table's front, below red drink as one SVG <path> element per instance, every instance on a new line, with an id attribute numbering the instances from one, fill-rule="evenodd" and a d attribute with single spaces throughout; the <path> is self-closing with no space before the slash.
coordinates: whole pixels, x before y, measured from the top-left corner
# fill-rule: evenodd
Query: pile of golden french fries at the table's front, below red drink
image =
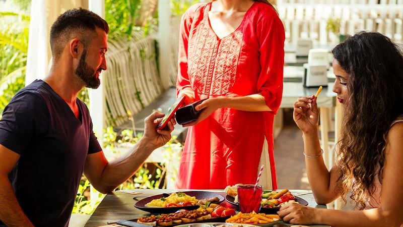
<path id="1" fill-rule="evenodd" d="M 228 223 L 243 223 L 243 224 L 265 224 L 280 219 L 277 214 L 264 214 L 264 213 L 242 213 L 231 216 L 225 222 Z"/>

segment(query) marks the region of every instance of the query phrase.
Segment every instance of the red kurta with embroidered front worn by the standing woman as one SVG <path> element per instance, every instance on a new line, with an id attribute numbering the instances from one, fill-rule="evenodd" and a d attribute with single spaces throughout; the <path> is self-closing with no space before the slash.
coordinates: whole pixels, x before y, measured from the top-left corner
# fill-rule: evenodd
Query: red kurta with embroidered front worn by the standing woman
<path id="1" fill-rule="evenodd" d="M 255 2 L 239 27 L 219 39 L 210 26 L 210 9 L 211 3 L 196 4 L 182 16 L 177 93 L 190 92 L 195 100 L 260 93 L 272 111 L 220 108 L 189 127 L 176 187 L 254 184 L 266 137 L 276 189 L 273 118 L 283 92 L 283 24 L 271 6 Z"/>

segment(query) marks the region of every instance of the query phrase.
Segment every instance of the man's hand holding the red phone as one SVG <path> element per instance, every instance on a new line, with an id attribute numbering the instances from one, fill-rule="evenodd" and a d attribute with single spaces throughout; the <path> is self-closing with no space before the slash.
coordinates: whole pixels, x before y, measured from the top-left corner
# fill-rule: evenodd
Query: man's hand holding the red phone
<path id="1" fill-rule="evenodd" d="M 156 130 L 157 125 L 162 121 L 164 116 L 164 113 L 153 112 L 144 120 L 145 129 L 143 139 L 153 145 L 154 148 L 163 146 L 171 139 L 171 132 L 176 124 L 175 119 L 172 118 L 167 124 L 168 130 Z"/>

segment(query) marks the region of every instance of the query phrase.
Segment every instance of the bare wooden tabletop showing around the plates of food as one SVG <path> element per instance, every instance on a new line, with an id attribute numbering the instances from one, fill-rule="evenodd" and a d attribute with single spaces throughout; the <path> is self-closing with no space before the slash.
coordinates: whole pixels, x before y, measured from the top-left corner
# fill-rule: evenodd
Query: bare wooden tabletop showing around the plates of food
<path id="1" fill-rule="evenodd" d="M 186 191 L 194 191 L 194 190 L 180 190 L 182 192 Z M 207 191 L 214 192 L 223 197 L 226 196 L 224 190 L 199 190 L 199 191 Z M 139 194 L 133 195 L 131 192 L 136 192 Z M 95 226 L 121 226 L 114 222 L 118 220 L 133 220 L 145 215 L 150 214 L 149 212 L 140 210 L 135 207 L 135 203 L 140 201 L 141 199 L 147 198 L 153 195 L 159 195 L 163 193 L 172 193 L 178 192 L 177 189 L 132 189 L 132 190 L 124 190 L 124 192 L 115 191 L 108 193 L 103 200 L 100 202 L 98 207 L 95 209 L 94 213 L 88 219 L 85 227 L 95 227 Z M 308 202 L 308 206 L 316 207 L 321 209 L 326 209 L 326 205 L 319 205 L 315 202 L 313 198 L 312 191 L 310 190 L 290 190 L 290 192 L 298 196 Z M 140 197 L 141 196 L 141 197 Z M 133 197 L 137 197 L 133 199 Z M 224 200 L 220 203 L 221 206 L 234 208 L 238 210 L 238 207 Z M 291 226 L 292 224 L 285 223 L 282 220 L 279 220 L 275 225 L 275 227 L 283 227 L 283 226 Z M 308 225 L 308 226 L 319 226 L 324 227 L 328 225 Z"/>

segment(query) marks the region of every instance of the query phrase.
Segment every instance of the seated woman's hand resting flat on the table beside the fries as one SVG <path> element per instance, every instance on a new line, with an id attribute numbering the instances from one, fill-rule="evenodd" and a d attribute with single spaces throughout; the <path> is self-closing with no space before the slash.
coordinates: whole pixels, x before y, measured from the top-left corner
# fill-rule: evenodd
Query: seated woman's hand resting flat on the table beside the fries
<path id="1" fill-rule="evenodd" d="M 298 203 L 284 204 L 277 212 L 280 218 L 291 224 L 319 224 L 317 215 L 320 209 Z"/>

